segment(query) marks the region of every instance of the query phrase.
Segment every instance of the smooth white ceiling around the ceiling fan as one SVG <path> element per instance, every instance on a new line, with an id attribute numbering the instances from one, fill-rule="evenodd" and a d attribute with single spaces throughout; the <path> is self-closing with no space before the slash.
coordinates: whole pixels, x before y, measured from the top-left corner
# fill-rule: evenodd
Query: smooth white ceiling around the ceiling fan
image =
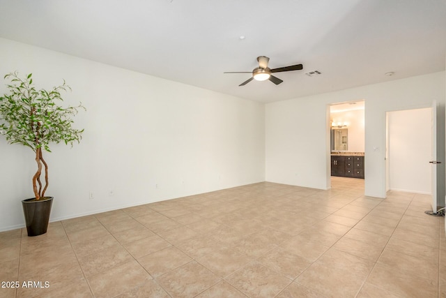
<path id="1" fill-rule="evenodd" d="M 0 0 L 0 37 L 272 102 L 445 70 L 446 1 Z M 304 69 L 224 74 L 261 55 Z"/>

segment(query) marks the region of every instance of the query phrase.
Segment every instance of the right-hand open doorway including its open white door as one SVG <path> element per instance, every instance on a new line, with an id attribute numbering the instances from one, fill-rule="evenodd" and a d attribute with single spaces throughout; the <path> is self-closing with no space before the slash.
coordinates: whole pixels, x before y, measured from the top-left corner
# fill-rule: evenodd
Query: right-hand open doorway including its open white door
<path id="1" fill-rule="evenodd" d="M 386 191 L 431 195 L 432 211 L 445 207 L 445 109 L 386 113 Z"/>

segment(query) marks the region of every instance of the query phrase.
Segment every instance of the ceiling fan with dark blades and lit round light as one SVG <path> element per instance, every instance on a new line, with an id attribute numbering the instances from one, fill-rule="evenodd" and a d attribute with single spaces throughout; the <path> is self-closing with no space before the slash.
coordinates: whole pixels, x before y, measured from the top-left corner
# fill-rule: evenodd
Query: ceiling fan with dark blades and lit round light
<path id="1" fill-rule="evenodd" d="M 301 70 L 303 68 L 302 64 L 296 64 L 292 66 L 285 66 L 285 67 L 279 67 L 279 68 L 268 68 L 268 61 L 270 59 L 265 56 L 259 56 L 257 57 L 257 61 L 259 61 L 259 67 L 254 68 L 254 70 L 251 71 L 228 71 L 225 73 L 252 73 L 252 77 L 250 77 L 248 80 L 243 82 L 242 84 L 238 86 L 245 86 L 245 84 L 251 82 L 252 80 L 257 81 L 265 81 L 270 80 L 274 84 L 278 85 L 284 81 L 280 80 L 278 77 L 275 77 L 274 75 L 271 75 L 271 73 L 282 73 L 284 71 L 291 71 L 291 70 Z"/>

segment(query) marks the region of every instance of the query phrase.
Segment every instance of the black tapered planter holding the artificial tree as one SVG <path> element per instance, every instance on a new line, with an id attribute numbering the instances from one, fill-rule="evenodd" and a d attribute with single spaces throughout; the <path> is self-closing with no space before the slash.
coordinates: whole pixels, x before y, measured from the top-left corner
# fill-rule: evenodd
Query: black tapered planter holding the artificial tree
<path id="1" fill-rule="evenodd" d="M 47 232 L 52 203 L 53 197 L 42 198 L 38 201 L 35 198 L 22 200 L 28 236 L 38 236 Z"/>

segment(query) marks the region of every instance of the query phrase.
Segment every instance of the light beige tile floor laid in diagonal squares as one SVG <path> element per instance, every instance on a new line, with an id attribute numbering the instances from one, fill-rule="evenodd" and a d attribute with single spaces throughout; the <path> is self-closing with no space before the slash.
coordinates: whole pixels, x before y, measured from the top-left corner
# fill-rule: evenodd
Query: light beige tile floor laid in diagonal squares
<path id="1" fill-rule="evenodd" d="M 446 297 L 429 209 L 332 177 L 330 191 L 265 182 L 1 232 L 0 281 L 20 287 L 0 297 Z"/>

